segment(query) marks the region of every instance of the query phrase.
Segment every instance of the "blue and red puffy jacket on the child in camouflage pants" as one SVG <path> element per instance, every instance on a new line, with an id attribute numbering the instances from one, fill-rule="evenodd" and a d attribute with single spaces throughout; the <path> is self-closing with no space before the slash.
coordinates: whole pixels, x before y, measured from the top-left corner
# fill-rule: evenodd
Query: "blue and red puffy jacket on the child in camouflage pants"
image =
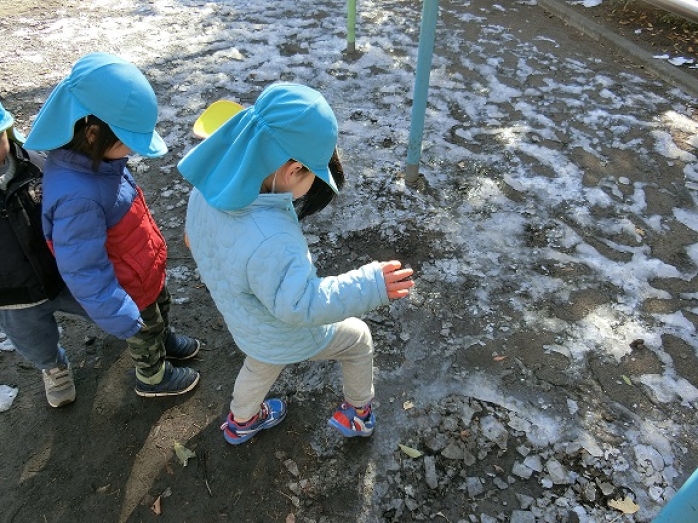
<path id="1" fill-rule="evenodd" d="M 44 235 L 70 292 L 103 330 L 133 336 L 165 284 L 167 245 L 126 158 L 93 172 L 86 156 L 51 151 L 43 191 Z"/>

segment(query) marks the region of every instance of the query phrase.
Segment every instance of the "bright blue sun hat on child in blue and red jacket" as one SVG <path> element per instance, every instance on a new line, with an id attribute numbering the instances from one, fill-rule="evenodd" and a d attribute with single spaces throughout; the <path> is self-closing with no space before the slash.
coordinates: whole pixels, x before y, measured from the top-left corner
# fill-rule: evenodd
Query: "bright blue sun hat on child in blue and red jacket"
<path id="1" fill-rule="evenodd" d="M 75 122 L 91 114 L 132 151 L 146 157 L 167 152 L 155 131 L 158 102 L 153 88 L 135 65 L 109 53 L 90 53 L 73 65 L 39 111 L 27 149 L 58 149 L 73 138 Z"/>

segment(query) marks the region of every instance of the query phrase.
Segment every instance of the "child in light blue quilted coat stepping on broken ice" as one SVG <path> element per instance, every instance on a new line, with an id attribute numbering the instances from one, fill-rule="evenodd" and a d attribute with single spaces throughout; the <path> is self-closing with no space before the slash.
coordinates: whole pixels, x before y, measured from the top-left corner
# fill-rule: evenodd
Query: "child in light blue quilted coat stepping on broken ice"
<path id="1" fill-rule="evenodd" d="M 338 192 L 330 171 L 331 163 L 341 167 L 336 144 L 324 97 L 279 83 L 179 162 L 194 185 L 186 221 L 192 255 L 246 354 L 222 427 L 233 445 L 284 418 L 285 402 L 265 397 L 286 365 L 305 360 L 341 364 L 344 401 L 330 426 L 347 437 L 373 432 L 373 341 L 355 316 L 404 298 L 414 283 L 398 261 L 317 275 L 296 211 L 318 211 Z"/>

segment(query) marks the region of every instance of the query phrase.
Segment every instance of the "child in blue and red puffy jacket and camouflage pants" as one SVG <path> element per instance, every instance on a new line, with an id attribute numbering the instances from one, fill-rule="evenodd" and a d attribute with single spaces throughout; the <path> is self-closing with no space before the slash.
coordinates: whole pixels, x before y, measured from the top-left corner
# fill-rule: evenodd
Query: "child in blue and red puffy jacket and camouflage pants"
<path id="1" fill-rule="evenodd" d="M 167 245 L 126 167 L 135 151 L 162 156 L 155 93 L 138 68 L 108 53 L 78 60 L 49 96 L 26 147 L 49 151 L 43 227 L 68 288 L 90 318 L 125 339 L 136 366 L 136 393 L 192 390 L 188 360 L 198 340 L 169 327 Z"/>

